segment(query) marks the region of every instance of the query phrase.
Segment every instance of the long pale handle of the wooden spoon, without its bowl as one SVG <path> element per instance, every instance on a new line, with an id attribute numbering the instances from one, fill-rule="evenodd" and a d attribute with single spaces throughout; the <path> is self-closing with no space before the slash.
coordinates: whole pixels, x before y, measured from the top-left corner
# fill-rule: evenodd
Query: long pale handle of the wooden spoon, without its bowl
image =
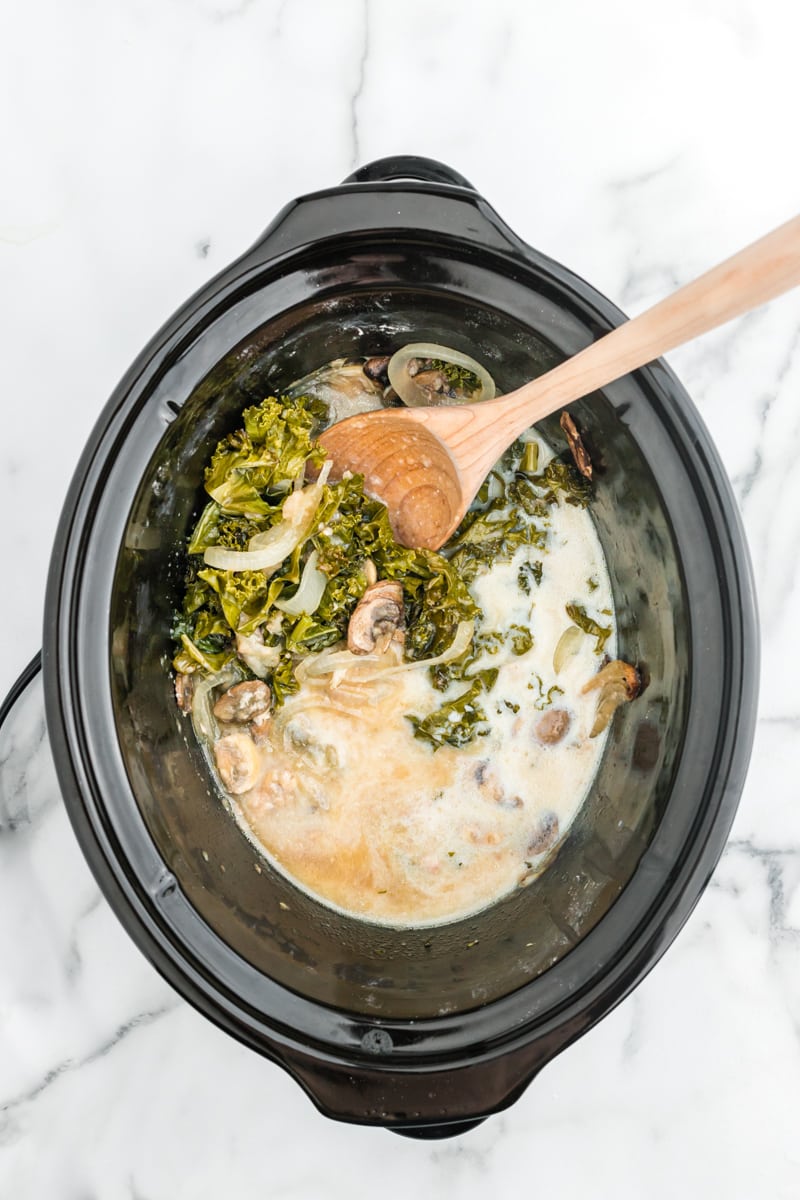
<path id="1" fill-rule="evenodd" d="M 541 421 L 564 404 L 798 284 L 800 216 L 606 334 L 546 376 L 482 406 L 486 409 L 495 406 L 493 444 L 509 445 L 529 425 Z"/>

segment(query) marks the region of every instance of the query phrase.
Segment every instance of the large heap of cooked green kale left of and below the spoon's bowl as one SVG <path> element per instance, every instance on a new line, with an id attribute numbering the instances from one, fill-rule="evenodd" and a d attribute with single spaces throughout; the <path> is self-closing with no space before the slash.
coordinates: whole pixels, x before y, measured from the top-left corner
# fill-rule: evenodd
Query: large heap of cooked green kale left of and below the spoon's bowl
<path id="1" fill-rule="evenodd" d="M 303 478 L 307 463 L 319 467 L 323 461 L 312 438 L 325 412 L 308 397 L 290 404 L 269 397 L 248 408 L 243 428 L 218 444 L 206 472 L 212 499 L 188 544 L 186 592 L 174 626 L 175 670 L 210 674 L 235 655 L 236 634 L 260 630 L 265 644 L 281 650 L 279 665 L 267 679 L 279 704 L 297 689 L 294 668 L 300 659 L 347 637 L 353 610 L 367 587 L 367 560 L 379 578 L 402 582 L 408 659 L 441 654 L 459 624 L 477 616 L 455 565 L 432 551 L 397 545 L 385 506 L 365 496 L 361 476 L 323 487 L 306 538 L 273 570 L 221 570 L 198 560 L 196 556 L 209 546 L 245 550 L 257 533 L 283 520 L 293 479 Z M 281 612 L 277 601 L 295 594 L 313 552 L 327 577 L 313 616 Z"/>

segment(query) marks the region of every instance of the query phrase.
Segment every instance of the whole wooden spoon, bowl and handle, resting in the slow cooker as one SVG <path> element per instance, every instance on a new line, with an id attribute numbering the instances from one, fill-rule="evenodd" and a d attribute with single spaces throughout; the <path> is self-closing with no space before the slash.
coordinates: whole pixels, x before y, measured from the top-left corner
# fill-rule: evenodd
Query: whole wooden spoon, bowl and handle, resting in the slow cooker
<path id="1" fill-rule="evenodd" d="M 381 409 L 332 425 L 319 439 L 331 478 L 363 475 L 397 541 L 438 550 L 523 430 L 799 283 L 800 216 L 507 396 Z"/>

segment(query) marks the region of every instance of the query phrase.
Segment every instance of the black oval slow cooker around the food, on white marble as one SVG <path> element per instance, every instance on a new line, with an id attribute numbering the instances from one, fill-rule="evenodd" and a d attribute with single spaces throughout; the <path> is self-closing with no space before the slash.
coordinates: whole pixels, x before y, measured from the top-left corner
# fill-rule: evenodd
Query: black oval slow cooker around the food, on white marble
<path id="1" fill-rule="evenodd" d="M 717 454 L 663 362 L 575 406 L 620 655 L 645 691 L 616 713 L 582 815 L 533 886 L 465 920 L 379 928 L 257 862 L 178 713 L 169 631 L 203 464 L 245 406 L 339 355 L 446 343 L 509 391 L 624 319 L 456 172 L 383 160 L 289 204 L 187 301 L 76 472 L 43 644 L 76 833 L 158 971 L 327 1116 L 462 1132 L 663 954 L 722 851 L 750 757 L 748 559 Z M 541 432 L 555 440 L 557 419 Z"/>

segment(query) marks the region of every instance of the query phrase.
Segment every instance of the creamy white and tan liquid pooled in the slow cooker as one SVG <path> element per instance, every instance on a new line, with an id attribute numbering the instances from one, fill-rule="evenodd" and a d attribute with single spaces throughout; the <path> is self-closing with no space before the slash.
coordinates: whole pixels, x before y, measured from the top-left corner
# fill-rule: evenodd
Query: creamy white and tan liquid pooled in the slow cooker
<path id="1" fill-rule="evenodd" d="M 543 445 L 540 454 L 549 457 Z M 473 584 L 483 630 L 518 624 L 534 638 L 522 655 L 509 640 L 480 664 L 499 668 L 480 701 L 486 736 L 435 751 L 414 737 L 404 714 L 425 716 L 464 691 L 463 683 L 434 691 L 425 668 L 368 684 L 306 682 L 270 722 L 258 782 L 231 803 L 258 848 L 318 900 L 369 922 L 432 925 L 495 902 L 552 859 L 607 737 L 589 737 L 597 694 L 582 695 L 600 666 L 594 637 L 579 638 L 558 676 L 553 652 L 571 624 L 567 604 L 601 624 L 614 628 L 614 619 L 589 514 L 559 503 L 551 521 L 545 551 L 527 547 Z M 542 580 L 528 595 L 518 571 L 535 560 Z M 551 692 L 548 704 L 553 686 L 561 694 Z M 553 709 L 570 724 L 547 745 L 536 726 Z"/>

